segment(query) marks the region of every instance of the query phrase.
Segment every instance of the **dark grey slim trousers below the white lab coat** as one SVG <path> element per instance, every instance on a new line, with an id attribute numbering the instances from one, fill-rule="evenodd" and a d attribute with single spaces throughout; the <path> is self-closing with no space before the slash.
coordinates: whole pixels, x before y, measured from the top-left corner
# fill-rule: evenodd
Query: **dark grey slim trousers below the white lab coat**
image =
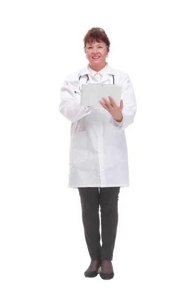
<path id="1" fill-rule="evenodd" d="M 118 224 L 120 187 L 78 187 L 84 235 L 91 260 L 112 260 Z M 99 230 L 101 212 L 101 239 Z"/>

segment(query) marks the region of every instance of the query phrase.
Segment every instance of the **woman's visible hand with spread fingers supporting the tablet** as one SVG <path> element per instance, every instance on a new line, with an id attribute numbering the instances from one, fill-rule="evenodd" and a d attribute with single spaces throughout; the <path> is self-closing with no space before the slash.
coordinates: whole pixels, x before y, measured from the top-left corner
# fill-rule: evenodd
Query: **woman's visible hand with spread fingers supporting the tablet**
<path id="1" fill-rule="evenodd" d="M 120 107 L 117 106 L 113 100 L 112 97 L 109 97 L 111 103 L 107 101 L 106 98 L 102 98 L 106 104 L 104 104 L 102 101 L 99 101 L 99 103 L 106 109 L 112 116 L 113 119 L 115 120 L 122 120 L 123 115 L 122 115 L 122 109 L 123 109 L 123 99 L 121 99 L 120 102 Z"/>

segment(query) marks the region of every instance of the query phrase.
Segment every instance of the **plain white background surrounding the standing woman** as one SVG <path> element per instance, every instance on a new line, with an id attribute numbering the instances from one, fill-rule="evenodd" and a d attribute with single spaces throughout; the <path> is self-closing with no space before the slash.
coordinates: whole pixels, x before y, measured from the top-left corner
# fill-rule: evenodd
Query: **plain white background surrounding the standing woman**
<path id="1" fill-rule="evenodd" d="M 2 1 L 0 4 L 0 290 L 194 290 L 192 1 Z M 65 78 L 88 63 L 102 27 L 108 64 L 132 81 L 114 278 L 84 277 L 90 257 L 77 189 L 67 188 Z M 123 287 L 121 287 L 121 285 Z"/>

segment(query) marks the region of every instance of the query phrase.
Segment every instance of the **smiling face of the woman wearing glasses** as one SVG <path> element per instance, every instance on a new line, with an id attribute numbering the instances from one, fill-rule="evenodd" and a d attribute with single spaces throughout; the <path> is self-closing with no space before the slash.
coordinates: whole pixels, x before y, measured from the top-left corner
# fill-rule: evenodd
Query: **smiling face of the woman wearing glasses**
<path id="1" fill-rule="evenodd" d="M 106 44 L 103 41 L 102 42 L 95 41 L 92 44 L 87 43 L 86 48 L 93 47 L 94 49 L 92 51 L 87 51 L 87 49 L 85 49 L 85 53 L 88 57 L 90 65 L 103 67 L 106 63 L 106 55 L 108 54 L 108 48 L 104 48 L 103 51 L 98 51 L 97 50 L 98 46 L 104 47 L 106 46 Z"/>

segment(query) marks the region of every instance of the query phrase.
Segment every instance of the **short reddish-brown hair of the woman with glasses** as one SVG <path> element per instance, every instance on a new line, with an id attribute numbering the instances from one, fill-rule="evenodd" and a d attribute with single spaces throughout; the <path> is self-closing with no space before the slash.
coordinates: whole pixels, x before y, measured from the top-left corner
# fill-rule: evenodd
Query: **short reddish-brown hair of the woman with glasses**
<path id="1" fill-rule="evenodd" d="M 97 42 L 105 42 L 106 46 L 108 47 L 108 52 L 109 52 L 109 47 L 110 47 L 110 40 L 106 34 L 106 32 L 100 28 L 100 27 L 93 27 L 91 28 L 86 35 L 83 38 L 84 42 L 84 49 L 86 48 L 87 43 L 93 44 L 94 41 Z"/>

